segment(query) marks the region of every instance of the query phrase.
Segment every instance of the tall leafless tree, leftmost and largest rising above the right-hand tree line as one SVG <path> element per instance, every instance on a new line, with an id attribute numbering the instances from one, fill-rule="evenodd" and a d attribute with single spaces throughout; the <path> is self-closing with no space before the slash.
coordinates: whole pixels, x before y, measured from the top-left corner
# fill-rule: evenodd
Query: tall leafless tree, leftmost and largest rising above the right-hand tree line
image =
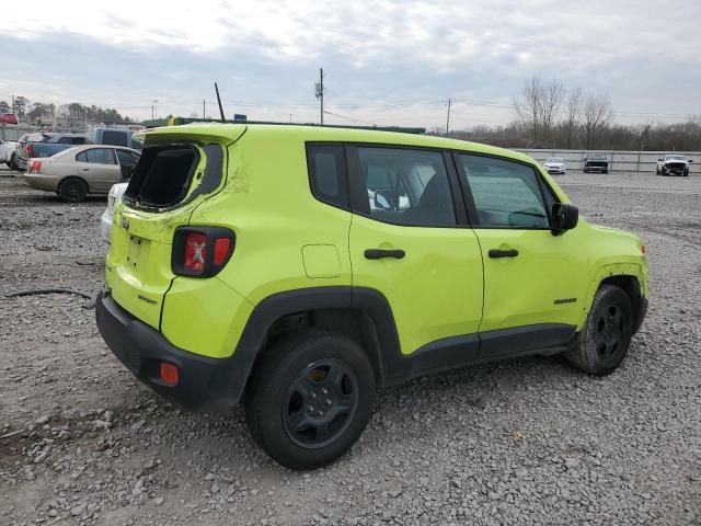
<path id="1" fill-rule="evenodd" d="M 514 101 L 514 110 L 530 128 L 533 140 L 548 140 L 565 94 L 564 84 L 556 79 L 544 81 L 533 76 L 524 82 L 521 99 Z"/>

